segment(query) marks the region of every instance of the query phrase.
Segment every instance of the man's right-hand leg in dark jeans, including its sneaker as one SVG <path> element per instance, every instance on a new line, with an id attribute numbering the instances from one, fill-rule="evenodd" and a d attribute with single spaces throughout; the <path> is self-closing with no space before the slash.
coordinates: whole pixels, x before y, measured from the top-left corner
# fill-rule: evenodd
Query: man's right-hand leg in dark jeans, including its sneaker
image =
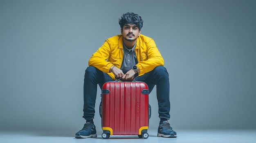
<path id="1" fill-rule="evenodd" d="M 168 119 L 170 119 L 170 83 L 169 75 L 164 66 L 157 66 L 154 70 L 135 78 L 136 81 L 144 81 L 148 84 L 149 93 L 157 86 L 158 113 L 160 118 L 157 136 L 176 137 Z"/>

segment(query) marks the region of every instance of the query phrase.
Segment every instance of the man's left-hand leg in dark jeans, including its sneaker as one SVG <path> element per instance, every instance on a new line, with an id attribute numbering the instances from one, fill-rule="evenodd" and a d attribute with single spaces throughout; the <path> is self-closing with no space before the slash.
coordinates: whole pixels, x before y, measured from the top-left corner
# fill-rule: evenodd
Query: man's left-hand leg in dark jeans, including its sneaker
<path id="1" fill-rule="evenodd" d="M 93 66 L 89 66 L 85 70 L 83 85 L 83 118 L 86 120 L 86 123 L 84 124 L 83 129 L 76 133 L 76 138 L 97 137 L 96 128 L 93 123 L 97 85 L 99 84 L 99 86 L 102 87 L 107 81 L 113 81 L 107 73 L 104 73 Z"/>

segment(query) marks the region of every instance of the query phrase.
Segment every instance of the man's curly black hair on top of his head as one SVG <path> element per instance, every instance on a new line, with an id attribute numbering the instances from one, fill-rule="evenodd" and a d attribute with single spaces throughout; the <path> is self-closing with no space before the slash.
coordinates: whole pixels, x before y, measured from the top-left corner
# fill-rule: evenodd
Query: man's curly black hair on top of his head
<path id="1" fill-rule="evenodd" d="M 124 28 L 124 24 L 135 24 L 140 30 L 143 26 L 143 20 L 138 14 L 128 12 L 124 13 L 121 19 L 119 19 L 119 25 L 121 29 Z"/>

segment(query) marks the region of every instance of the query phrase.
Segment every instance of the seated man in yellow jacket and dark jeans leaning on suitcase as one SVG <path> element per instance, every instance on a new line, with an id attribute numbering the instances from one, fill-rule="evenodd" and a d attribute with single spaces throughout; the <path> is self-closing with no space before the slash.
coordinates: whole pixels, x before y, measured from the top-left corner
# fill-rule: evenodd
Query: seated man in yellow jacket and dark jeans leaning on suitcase
<path id="1" fill-rule="evenodd" d="M 97 84 L 100 87 L 107 81 L 122 80 L 144 81 L 149 93 L 157 86 L 159 108 L 159 128 L 157 136 L 176 137 L 170 119 L 169 77 L 164 68 L 164 59 L 152 38 L 141 34 L 143 20 L 135 13 L 125 13 L 119 19 L 121 35 L 108 38 L 89 59 L 84 78 L 83 118 L 86 120 L 76 138 L 97 137 L 94 107 Z"/>

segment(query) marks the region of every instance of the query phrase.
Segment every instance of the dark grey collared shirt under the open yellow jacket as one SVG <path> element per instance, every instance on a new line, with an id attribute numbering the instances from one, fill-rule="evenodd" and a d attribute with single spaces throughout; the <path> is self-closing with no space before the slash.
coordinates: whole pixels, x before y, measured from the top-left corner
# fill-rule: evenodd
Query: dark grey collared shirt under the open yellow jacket
<path id="1" fill-rule="evenodd" d="M 123 73 L 126 74 L 128 70 L 132 69 L 133 66 L 135 66 L 138 62 L 136 54 L 135 54 L 135 46 L 136 44 L 132 47 L 132 49 L 126 48 L 126 46 L 123 43 L 124 47 L 124 57 L 123 57 L 123 62 L 121 66 L 121 70 L 123 70 Z"/>

